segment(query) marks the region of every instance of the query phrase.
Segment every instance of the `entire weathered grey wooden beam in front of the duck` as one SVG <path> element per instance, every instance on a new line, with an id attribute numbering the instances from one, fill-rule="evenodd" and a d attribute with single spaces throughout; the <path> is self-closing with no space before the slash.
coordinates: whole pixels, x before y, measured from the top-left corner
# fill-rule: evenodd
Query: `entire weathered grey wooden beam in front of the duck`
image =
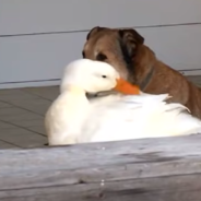
<path id="1" fill-rule="evenodd" d="M 0 151 L 1 201 L 200 201 L 201 135 Z"/>

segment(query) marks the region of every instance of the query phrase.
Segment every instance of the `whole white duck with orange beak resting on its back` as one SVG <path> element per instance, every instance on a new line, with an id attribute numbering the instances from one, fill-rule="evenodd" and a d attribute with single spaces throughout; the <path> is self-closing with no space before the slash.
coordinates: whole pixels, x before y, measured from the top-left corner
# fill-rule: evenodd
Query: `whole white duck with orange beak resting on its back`
<path id="1" fill-rule="evenodd" d="M 140 95 L 86 97 L 86 93 L 113 88 L 126 93 L 121 87 L 125 83 L 130 87 L 129 93 Z M 144 94 L 120 79 L 105 62 L 88 59 L 71 62 L 66 68 L 60 90 L 45 118 L 49 145 L 201 132 L 201 121 L 187 113 L 185 106 L 165 102 L 168 94 Z"/>

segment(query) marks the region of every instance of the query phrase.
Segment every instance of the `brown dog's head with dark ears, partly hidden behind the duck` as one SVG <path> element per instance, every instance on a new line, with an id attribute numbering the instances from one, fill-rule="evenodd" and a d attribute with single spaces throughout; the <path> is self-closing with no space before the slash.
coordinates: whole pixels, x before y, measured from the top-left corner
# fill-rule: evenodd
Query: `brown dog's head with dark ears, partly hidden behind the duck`
<path id="1" fill-rule="evenodd" d="M 94 27 L 86 37 L 83 58 L 108 62 L 126 80 L 132 80 L 133 59 L 144 38 L 134 29 Z"/>

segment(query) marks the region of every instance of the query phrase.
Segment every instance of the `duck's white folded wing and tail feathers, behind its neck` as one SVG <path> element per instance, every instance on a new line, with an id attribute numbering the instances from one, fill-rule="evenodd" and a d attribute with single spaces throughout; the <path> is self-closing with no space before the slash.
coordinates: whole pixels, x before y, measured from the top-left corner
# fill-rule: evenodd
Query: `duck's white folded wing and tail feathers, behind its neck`
<path id="1" fill-rule="evenodd" d="M 190 134 L 201 130 L 181 104 L 167 104 L 168 94 L 103 97 L 94 102 L 83 131 L 92 141 Z"/>

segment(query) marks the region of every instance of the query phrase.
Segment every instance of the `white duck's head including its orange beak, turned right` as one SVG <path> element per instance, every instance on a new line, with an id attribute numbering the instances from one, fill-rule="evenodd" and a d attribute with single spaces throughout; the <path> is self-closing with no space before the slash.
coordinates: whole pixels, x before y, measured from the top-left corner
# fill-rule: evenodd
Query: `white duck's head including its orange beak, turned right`
<path id="1" fill-rule="evenodd" d="M 82 88 L 88 94 L 111 90 L 123 94 L 140 94 L 139 87 L 122 80 L 110 64 L 90 59 L 79 59 L 67 66 L 61 93 L 69 86 Z"/>

